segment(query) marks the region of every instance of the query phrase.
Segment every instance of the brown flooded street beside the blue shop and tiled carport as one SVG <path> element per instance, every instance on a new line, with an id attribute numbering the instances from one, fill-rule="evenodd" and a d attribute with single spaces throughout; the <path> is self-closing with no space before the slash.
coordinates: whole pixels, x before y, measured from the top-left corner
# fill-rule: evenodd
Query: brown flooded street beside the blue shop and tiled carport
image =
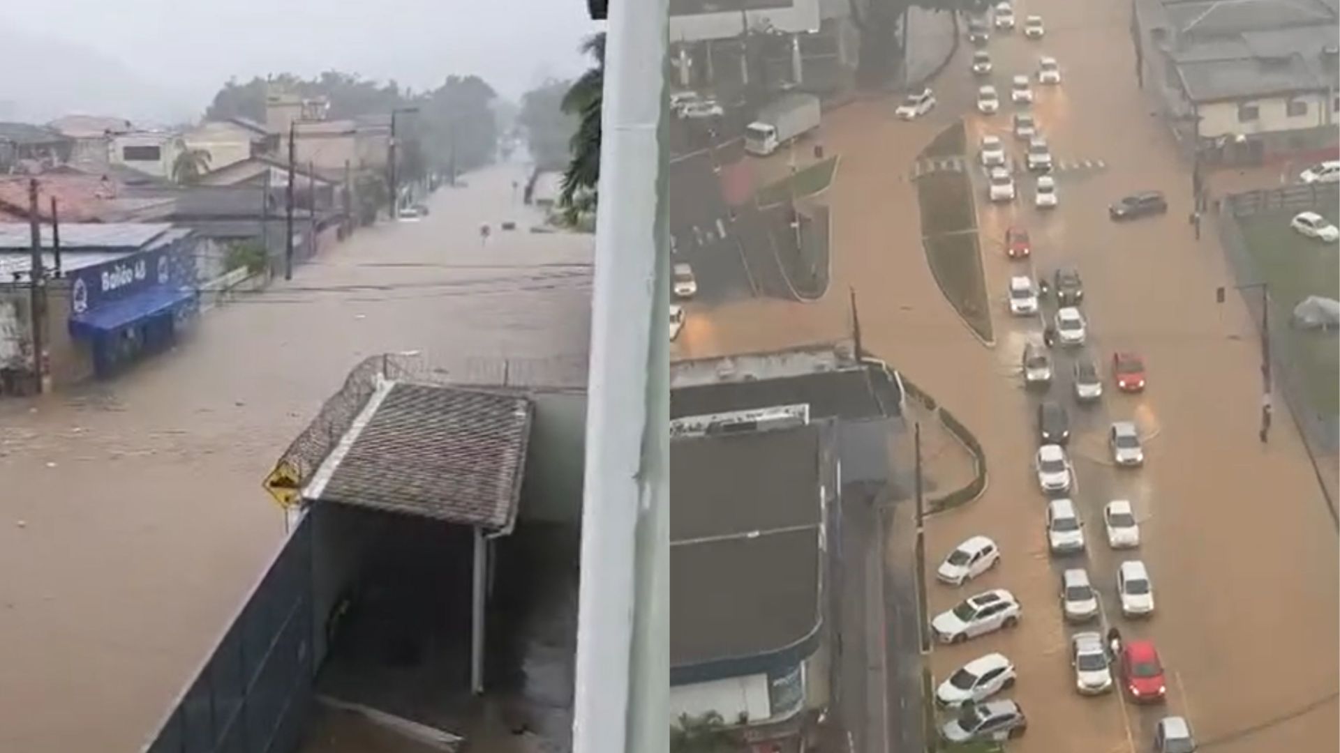
<path id="1" fill-rule="evenodd" d="M 0 402 L 0 750 L 150 738 L 284 536 L 261 478 L 360 359 L 584 383 L 591 238 L 527 232 L 519 165 L 466 180 L 114 382 Z"/>

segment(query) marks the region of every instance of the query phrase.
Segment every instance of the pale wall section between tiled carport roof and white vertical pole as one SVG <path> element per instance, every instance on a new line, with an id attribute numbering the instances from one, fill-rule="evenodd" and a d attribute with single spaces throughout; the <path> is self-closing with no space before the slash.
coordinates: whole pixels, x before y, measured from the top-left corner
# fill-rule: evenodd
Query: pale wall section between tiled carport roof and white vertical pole
<path id="1" fill-rule="evenodd" d="M 580 524 L 586 393 L 537 391 L 521 486 L 523 520 Z"/>

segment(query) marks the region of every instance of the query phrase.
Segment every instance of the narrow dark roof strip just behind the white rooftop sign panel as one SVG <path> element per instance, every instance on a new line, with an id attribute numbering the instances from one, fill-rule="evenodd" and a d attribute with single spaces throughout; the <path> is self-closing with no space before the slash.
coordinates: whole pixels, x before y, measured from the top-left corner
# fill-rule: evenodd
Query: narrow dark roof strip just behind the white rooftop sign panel
<path id="1" fill-rule="evenodd" d="M 694 385 L 671 390 L 670 418 L 799 403 L 811 418 L 868 418 L 896 414 L 896 393 L 875 368 Z"/>

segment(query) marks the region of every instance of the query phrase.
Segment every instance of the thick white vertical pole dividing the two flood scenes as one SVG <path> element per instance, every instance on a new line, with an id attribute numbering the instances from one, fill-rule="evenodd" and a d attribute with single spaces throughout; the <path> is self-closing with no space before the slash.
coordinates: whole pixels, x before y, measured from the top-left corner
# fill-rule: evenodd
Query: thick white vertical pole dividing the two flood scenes
<path id="1" fill-rule="evenodd" d="M 669 750 L 669 0 L 610 4 L 587 390 L 576 753 Z"/>

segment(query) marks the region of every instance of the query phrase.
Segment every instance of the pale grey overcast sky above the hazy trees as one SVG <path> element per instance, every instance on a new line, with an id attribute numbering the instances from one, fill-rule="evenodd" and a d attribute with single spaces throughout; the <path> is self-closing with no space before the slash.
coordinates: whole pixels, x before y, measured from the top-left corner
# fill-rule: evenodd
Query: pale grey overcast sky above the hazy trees
<path id="1" fill-rule="evenodd" d="M 415 90 L 436 87 L 449 74 L 478 74 L 516 99 L 545 76 L 580 72 L 586 62 L 576 48 L 598 31 L 584 0 L 43 0 L 4 5 L 0 15 L 8 31 L 3 33 L 17 33 L 27 43 L 63 43 L 52 46 L 55 55 L 43 55 L 39 67 L 84 48 L 123 64 L 165 109 L 197 115 L 229 76 L 247 80 L 257 74 L 311 75 L 330 68 L 394 78 Z M 5 86 L 0 80 L 0 102 L 25 110 L 25 91 Z M 48 92 L 50 87 L 43 94 Z M 66 107 L 80 109 L 78 103 Z"/>

